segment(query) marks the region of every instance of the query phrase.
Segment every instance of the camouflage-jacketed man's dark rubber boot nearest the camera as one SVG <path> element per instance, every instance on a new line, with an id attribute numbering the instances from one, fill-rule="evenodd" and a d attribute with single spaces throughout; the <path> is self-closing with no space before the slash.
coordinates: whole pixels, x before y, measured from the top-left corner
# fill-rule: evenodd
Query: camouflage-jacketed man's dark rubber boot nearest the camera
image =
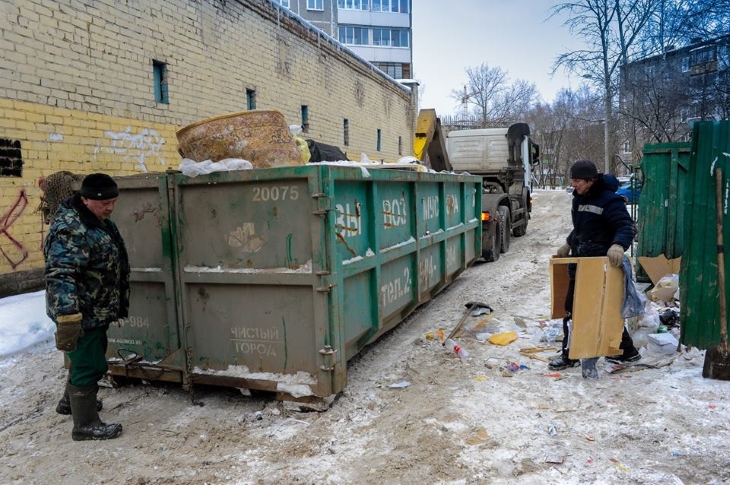
<path id="1" fill-rule="evenodd" d="M 71 438 L 74 441 L 109 440 L 122 434 L 119 423 L 103 423 L 96 410 L 97 386 L 76 387 L 68 385 L 71 414 L 74 418 L 74 429 Z"/>

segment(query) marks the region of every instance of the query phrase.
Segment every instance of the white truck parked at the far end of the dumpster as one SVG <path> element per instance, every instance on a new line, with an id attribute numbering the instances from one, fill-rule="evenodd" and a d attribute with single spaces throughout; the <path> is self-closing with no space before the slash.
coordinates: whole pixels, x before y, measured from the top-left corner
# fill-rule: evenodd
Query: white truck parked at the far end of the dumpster
<path id="1" fill-rule="evenodd" d="M 455 172 L 482 177 L 482 252 L 499 259 L 512 236 L 524 236 L 532 211 L 532 169 L 540 161 L 539 146 L 527 123 L 507 128 L 456 130 L 446 138 L 448 160 Z"/>

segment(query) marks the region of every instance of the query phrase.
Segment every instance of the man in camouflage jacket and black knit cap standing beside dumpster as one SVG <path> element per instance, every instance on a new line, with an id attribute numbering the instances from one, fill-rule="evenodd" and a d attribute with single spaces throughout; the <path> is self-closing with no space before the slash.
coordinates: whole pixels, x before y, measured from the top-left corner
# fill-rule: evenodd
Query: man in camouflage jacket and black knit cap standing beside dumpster
<path id="1" fill-rule="evenodd" d="M 56 322 L 56 348 L 71 363 L 57 411 L 72 414 L 72 439 L 110 439 L 121 424 L 99 419 L 97 382 L 106 374 L 109 325 L 129 311 L 129 259 L 109 219 L 119 189 L 106 174 L 84 178 L 79 193 L 63 201 L 44 245 L 46 312 Z"/>

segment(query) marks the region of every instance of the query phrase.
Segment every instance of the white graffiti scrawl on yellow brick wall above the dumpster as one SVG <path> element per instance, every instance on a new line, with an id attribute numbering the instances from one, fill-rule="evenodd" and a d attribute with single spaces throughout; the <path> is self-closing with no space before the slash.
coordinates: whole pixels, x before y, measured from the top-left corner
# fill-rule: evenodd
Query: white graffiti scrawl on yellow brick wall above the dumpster
<path id="1" fill-rule="evenodd" d="M 111 140 L 111 146 L 103 147 L 102 142 L 97 142 L 94 158 L 99 153 L 111 153 L 125 161 L 134 162 L 134 168 L 141 172 L 147 172 L 147 163 L 150 161 L 165 166 L 162 156 L 165 139 L 156 130 L 144 128 L 139 133 L 133 133 L 132 127 L 127 126 L 124 131 L 105 131 L 104 135 Z"/>

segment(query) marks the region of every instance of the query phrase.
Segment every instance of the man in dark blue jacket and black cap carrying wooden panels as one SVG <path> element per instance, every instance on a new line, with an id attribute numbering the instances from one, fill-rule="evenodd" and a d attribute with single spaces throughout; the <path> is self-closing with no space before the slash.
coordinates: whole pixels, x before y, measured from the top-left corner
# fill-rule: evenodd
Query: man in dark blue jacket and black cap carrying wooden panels
<path id="1" fill-rule="evenodd" d="M 636 235 L 636 227 L 631 219 L 624 200 L 616 194 L 618 180 L 613 175 L 600 174 L 596 164 L 590 160 L 579 160 L 570 167 L 573 186 L 573 205 L 571 217 L 573 230 L 568 239 L 558 249 L 558 256 L 569 255 L 608 256 L 611 265 L 619 268 L 623 264 L 624 252 L 631 246 Z M 568 358 L 570 345 L 571 313 L 575 293 L 575 264 L 568 265 L 568 293 L 565 298 L 566 317 L 563 319 L 563 348 L 560 357 L 549 364 L 552 370 L 575 367 L 579 360 Z M 641 354 L 624 327 L 619 346 L 623 355 L 610 360 L 621 363 L 636 362 Z"/>

